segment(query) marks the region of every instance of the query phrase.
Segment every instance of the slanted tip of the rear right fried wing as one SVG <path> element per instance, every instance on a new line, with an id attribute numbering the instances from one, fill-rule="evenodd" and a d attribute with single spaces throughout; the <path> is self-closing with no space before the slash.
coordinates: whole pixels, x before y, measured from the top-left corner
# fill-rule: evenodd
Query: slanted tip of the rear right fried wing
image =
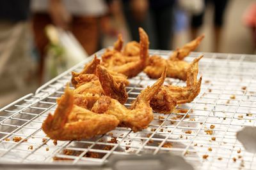
<path id="1" fill-rule="evenodd" d="M 170 60 L 183 60 L 189 53 L 196 49 L 198 45 L 200 45 L 202 39 L 204 39 L 204 34 L 198 36 L 193 41 L 186 43 L 182 48 L 177 48 L 172 55 L 170 56 Z"/>

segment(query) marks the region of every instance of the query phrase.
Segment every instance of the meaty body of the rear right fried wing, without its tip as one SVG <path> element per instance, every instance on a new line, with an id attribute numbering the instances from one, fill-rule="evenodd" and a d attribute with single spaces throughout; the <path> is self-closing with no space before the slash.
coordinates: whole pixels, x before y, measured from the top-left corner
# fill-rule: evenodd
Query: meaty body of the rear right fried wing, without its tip
<path id="1" fill-rule="evenodd" d="M 163 73 L 164 67 L 167 67 L 166 76 L 170 78 L 187 79 L 189 63 L 183 60 L 166 60 L 159 55 L 153 55 L 148 60 L 148 66 L 144 72 L 150 78 L 159 78 Z"/>

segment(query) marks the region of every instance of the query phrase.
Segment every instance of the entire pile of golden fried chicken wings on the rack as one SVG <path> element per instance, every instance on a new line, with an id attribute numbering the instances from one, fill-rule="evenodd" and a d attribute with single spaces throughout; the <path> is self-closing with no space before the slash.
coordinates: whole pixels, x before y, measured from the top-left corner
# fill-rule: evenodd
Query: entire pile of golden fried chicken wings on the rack
<path id="1" fill-rule="evenodd" d="M 95 55 L 80 73 L 72 72 L 71 83 L 57 99 L 57 108 L 42 124 L 51 139 L 88 139 L 105 134 L 116 127 L 129 127 L 133 132 L 148 127 L 153 120 L 153 110 L 171 113 L 177 104 L 189 103 L 200 93 L 202 77 L 197 79 L 197 57 L 190 64 L 184 61 L 189 52 L 204 38 L 199 36 L 180 49 L 170 59 L 159 55 L 149 57 L 148 36 L 139 28 L 140 43 L 131 41 L 124 45 L 118 35 L 113 50 L 107 49 L 102 60 Z M 124 45 L 124 48 L 123 48 Z M 127 78 L 144 71 L 150 78 L 159 78 L 154 85 L 142 90 L 130 108 L 124 104 L 128 94 Z M 163 85 L 166 76 L 186 81 L 186 87 Z"/>

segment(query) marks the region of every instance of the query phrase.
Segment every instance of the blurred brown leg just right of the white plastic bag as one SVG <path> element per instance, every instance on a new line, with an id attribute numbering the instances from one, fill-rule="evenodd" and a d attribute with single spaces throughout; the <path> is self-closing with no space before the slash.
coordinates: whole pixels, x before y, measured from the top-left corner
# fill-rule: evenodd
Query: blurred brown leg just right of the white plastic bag
<path id="1" fill-rule="evenodd" d="M 71 31 L 88 55 L 97 52 L 99 46 L 99 18 L 73 17 Z"/>

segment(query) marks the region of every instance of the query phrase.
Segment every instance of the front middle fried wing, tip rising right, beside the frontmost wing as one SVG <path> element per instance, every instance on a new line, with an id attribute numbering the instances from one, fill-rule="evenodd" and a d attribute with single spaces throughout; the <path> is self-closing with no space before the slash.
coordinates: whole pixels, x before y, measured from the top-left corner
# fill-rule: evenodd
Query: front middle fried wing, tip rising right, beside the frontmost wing
<path id="1" fill-rule="evenodd" d="M 153 120 L 152 108 L 150 108 L 150 100 L 154 97 L 161 85 L 163 85 L 166 77 L 166 70 L 161 78 L 152 85 L 143 90 L 136 98 L 130 109 L 125 108 L 115 99 L 107 96 L 102 96 L 94 104 L 92 111 L 96 113 L 105 113 L 114 115 L 120 121 L 119 126 L 130 127 L 132 131 L 137 132 L 148 127 L 148 124 Z"/>

